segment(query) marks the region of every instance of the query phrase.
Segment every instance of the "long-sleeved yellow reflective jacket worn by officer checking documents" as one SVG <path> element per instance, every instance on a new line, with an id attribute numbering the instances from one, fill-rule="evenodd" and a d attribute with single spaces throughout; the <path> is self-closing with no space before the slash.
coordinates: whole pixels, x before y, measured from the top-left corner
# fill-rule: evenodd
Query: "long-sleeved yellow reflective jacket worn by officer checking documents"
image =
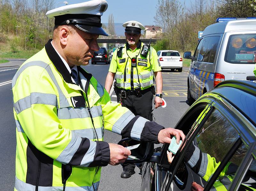
<path id="1" fill-rule="evenodd" d="M 77 69 L 80 86 L 72 82 L 49 40 L 13 77 L 14 190 L 97 190 L 100 166 L 110 159 L 104 129 L 157 143 L 162 126 L 111 103 L 103 86 Z"/>

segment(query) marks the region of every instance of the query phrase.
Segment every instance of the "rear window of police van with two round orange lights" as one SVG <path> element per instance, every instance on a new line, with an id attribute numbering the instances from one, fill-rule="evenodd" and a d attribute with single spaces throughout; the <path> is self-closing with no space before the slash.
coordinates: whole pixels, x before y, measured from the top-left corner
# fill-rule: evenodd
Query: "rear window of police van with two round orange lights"
<path id="1" fill-rule="evenodd" d="M 256 34 L 230 35 L 224 60 L 233 64 L 255 64 Z"/>

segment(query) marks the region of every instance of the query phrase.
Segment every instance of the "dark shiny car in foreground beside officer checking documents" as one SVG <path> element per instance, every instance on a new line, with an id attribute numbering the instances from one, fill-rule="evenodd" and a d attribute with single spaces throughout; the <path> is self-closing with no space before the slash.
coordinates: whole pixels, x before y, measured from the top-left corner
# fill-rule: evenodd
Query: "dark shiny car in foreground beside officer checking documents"
<path id="1" fill-rule="evenodd" d="M 171 163 L 169 144 L 152 155 L 148 143 L 143 158 L 126 160 L 144 162 L 141 191 L 256 189 L 256 83 L 217 84 L 189 107 L 175 129 L 186 138 Z"/>

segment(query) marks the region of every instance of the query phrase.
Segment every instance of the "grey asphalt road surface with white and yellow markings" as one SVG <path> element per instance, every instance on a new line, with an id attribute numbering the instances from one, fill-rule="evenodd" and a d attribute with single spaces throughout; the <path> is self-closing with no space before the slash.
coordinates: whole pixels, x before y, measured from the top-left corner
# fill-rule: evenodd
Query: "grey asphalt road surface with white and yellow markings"
<path id="1" fill-rule="evenodd" d="M 23 61 L 12 60 L 8 65 L 20 65 Z M 2 65 L 5 66 L 5 65 Z M 95 64 L 85 66 L 85 70 L 92 73 L 93 76 L 104 86 L 108 73 L 109 65 Z M 1 67 L 0 64 L 0 190 L 13 190 L 15 179 L 15 150 L 16 135 L 15 122 L 12 111 L 12 91 L 11 80 L 18 67 Z M 163 95 L 167 102 L 167 107 L 157 108 L 153 111 L 156 122 L 164 127 L 174 127 L 180 117 L 188 109 L 187 100 L 187 76 L 188 70 L 182 72 L 170 72 L 164 70 L 163 75 Z M 111 100 L 116 101 L 113 92 Z M 117 143 L 121 136 L 106 131 L 105 141 L 108 143 Z M 156 145 L 157 146 L 157 145 Z M 135 174 L 129 179 L 120 178 L 122 166 L 108 165 L 102 168 L 101 183 L 99 191 L 128 191 L 140 190 L 141 176 L 139 169 L 135 168 Z"/>

